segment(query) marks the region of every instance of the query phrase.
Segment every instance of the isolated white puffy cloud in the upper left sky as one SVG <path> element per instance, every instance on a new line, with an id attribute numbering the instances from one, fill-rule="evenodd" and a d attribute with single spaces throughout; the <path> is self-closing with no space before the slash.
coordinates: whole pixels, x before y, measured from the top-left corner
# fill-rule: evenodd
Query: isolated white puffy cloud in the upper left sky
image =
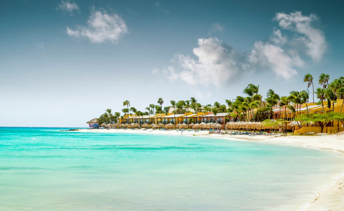
<path id="1" fill-rule="evenodd" d="M 116 42 L 124 34 L 128 33 L 128 27 L 117 14 L 108 14 L 105 10 L 92 10 L 87 20 L 87 26 L 77 25 L 76 30 L 67 27 L 67 34 L 72 37 L 86 37 L 91 42 L 101 43 L 105 41 Z"/>

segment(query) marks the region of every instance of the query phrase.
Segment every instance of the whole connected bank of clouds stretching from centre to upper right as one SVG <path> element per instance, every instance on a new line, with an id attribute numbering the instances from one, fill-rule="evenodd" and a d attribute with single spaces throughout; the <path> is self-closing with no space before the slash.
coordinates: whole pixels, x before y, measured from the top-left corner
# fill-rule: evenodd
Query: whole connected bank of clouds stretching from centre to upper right
<path id="1" fill-rule="evenodd" d="M 312 25 L 317 20 L 315 15 L 277 13 L 273 20 L 278 21 L 280 28 L 273 28 L 267 41 L 257 41 L 245 52 L 239 53 L 217 38 L 198 39 L 193 56 L 175 56 L 172 62 L 176 64 L 164 70 L 165 76 L 169 80 L 180 79 L 202 86 L 221 86 L 249 71 L 272 71 L 288 79 L 298 74 L 297 70 L 310 59 L 322 58 L 326 42 L 323 32 Z M 291 38 L 283 30 L 292 32 Z M 295 39 L 307 48 L 293 46 Z M 300 55 L 304 55 L 303 58 Z"/>

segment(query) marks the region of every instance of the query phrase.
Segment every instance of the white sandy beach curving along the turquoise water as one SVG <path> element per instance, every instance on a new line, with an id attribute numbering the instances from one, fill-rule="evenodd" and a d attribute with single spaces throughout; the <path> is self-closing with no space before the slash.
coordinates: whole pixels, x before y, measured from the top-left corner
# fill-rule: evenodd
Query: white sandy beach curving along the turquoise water
<path id="1" fill-rule="evenodd" d="M 131 130 L 131 129 L 80 129 L 77 132 L 87 133 L 133 133 L 133 134 L 157 134 L 157 135 L 181 135 L 181 131 L 175 130 Z M 221 138 L 236 141 L 259 141 L 261 143 L 311 147 L 323 150 L 340 152 L 344 156 L 344 135 L 322 135 L 322 136 L 281 136 L 281 135 L 221 135 L 208 134 L 208 131 L 183 131 L 184 136 L 197 136 L 207 138 Z M 323 190 L 319 190 L 314 200 L 300 207 L 302 211 L 324 211 L 324 210 L 343 210 L 344 211 L 344 172 L 329 178 Z"/>

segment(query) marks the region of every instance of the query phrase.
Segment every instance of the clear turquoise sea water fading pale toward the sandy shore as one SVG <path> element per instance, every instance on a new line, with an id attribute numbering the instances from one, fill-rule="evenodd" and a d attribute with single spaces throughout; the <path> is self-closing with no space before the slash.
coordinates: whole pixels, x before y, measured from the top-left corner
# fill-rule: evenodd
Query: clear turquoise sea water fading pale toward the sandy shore
<path id="1" fill-rule="evenodd" d="M 339 153 L 194 136 L 0 128 L 0 210 L 297 210 Z"/>

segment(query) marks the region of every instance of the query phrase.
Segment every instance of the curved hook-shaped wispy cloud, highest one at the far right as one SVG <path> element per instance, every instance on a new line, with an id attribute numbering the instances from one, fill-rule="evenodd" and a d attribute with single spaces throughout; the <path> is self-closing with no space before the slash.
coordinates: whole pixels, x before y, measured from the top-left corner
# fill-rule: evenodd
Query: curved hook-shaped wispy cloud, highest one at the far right
<path id="1" fill-rule="evenodd" d="M 312 22 L 318 18 L 311 14 L 309 16 L 302 15 L 302 12 L 276 13 L 274 20 L 279 22 L 282 29 L 288 29 L 300 34 L 299 40 L 306 47 L 306 53 L 316 61 L 319 61 L 326 52 L 326 41 L 322 31 L 312 26 Z"/>

